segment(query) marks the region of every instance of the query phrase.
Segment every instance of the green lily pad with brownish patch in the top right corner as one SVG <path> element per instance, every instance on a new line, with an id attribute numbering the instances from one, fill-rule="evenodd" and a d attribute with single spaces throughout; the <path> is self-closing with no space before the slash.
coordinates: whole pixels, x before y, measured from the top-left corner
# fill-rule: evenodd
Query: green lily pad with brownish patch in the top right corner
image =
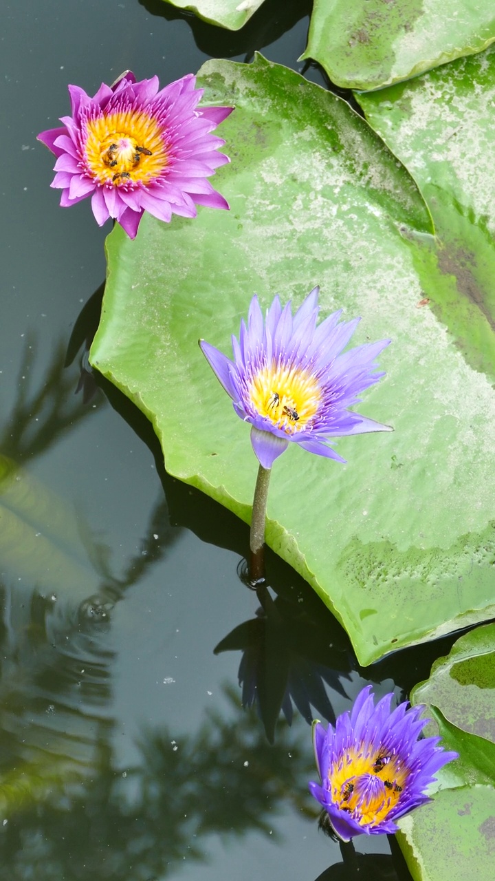
<path id="1" fill-rule="evenodd" d="M 495 7 L 470 0 L 314 0 L 307 49 L 336 83 L 373 90 L 495 40 Z"/>

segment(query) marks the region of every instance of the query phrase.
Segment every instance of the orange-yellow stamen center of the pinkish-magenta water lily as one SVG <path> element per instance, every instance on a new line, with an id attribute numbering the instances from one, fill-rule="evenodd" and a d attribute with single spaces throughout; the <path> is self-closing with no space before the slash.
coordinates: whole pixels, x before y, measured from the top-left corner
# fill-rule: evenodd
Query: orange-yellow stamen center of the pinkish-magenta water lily
<path id="1" fill-rule="evenodd" d="M 99 183 L 147 183 L 167 165 L 163 126 L 142 110 L 118 111 L 86 122 L 85 159 Z"/>

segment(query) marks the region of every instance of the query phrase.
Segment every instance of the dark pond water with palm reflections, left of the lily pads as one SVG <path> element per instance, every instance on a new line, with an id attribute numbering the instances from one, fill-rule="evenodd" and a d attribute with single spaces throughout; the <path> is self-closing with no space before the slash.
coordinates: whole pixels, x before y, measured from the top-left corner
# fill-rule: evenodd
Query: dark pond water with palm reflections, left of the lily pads
<path id="1" fill-rule="evenodd" d="M 258 48 L 302 70 L 309 4 L 265 5 L 241 33 L 159 2 L 4 5 L 5 878 L 343 877 L 327 872 L 341 856 L 307 791 L 308 722 L 349 708 L 367 682 L 402 699 L 450 645 L 360 669 L 342 628 L 275 555 L 271 592 L 245 587 L 247 528 L 166 475 L 129 402 L 87 376 L 76 394 L 110 227 L 96 226 L 89 202 L 58 207 L 36 134 L 68 113 L 68 83 L 94 93 L 126 69 L 165 85 Z M 306 75 L 324 85 L 316 67 Z M 258 713 L 241 707 L 255 683 Z M 290 726 L 276 724 L 286 686 L 299 706 Z M 410 877 L 385 837 L 357 849 L 362 877 Z"/>

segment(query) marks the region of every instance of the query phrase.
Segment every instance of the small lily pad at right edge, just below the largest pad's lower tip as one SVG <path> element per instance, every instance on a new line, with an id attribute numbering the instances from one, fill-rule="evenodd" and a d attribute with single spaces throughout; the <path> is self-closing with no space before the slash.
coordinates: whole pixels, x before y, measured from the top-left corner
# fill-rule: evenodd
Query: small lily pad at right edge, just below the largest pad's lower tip
<path id="1" fill-rule="evenodd" d="M 458 728 L 495 743 L 495 624 L 457 640 L 413 689 L 411 701 L 434 704 Z"/>

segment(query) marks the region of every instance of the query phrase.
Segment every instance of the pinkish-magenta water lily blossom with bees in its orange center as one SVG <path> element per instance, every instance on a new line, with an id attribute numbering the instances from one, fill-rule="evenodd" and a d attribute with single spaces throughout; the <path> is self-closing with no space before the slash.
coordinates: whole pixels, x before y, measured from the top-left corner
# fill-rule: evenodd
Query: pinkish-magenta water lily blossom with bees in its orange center
<path id="1" fill-rule="evenodd" d="M 69 93 L 63 128 L 38 135 L 57 157 L 51 186 L 63 208 L 91 196 L 97 223 L 115 218 L 131 239 L 144 211 L 168 222 L 196 217 L 196 205 L 228 209 L 206 178 L 230 161 L 211 131 L 233 107 L 198 107 L 192 74 L 159 90 L 158 77 L 137 82 L 127 71 L 92 98 L 78 85 Z"/>

